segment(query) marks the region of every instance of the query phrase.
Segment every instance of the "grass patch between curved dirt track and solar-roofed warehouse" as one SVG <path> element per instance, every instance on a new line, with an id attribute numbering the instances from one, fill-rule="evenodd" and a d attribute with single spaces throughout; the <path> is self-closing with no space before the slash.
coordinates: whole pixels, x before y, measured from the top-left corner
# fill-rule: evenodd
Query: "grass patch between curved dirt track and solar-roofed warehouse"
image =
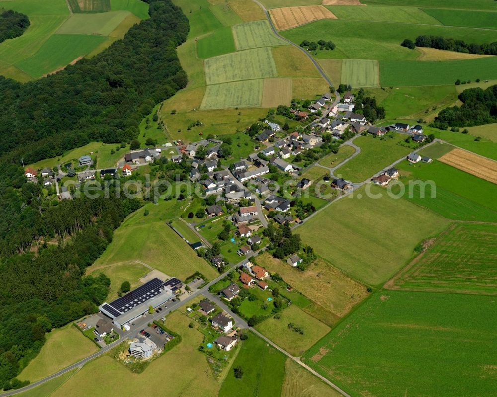
<path id="1" fill-rule="evenodd" d="M 113 301 L 118 297 L 118 291 L 123 281 L 128 281 L 131 289 L 140 286 L 140 279 L 151 270 L 138 262 L 115 263 L 108 266 L 92 265 L 86 269 L 86 274 L 96 277 L 100 273 L 110 278 L 110 291 L 107 295 L 107 302 Z"/>

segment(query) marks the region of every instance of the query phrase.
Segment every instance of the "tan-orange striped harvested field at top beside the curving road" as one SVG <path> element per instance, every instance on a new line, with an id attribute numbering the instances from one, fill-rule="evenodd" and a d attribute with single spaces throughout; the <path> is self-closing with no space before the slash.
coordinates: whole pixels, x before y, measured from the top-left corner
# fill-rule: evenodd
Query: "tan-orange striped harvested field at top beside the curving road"
<path id="1" fill-rule="evenodd" d="M 322 5 L 273 8 L 269 10 L 269 15 L 278 30 L 291 29 L 319 19 L 336 19 L 336 16 Z"/>

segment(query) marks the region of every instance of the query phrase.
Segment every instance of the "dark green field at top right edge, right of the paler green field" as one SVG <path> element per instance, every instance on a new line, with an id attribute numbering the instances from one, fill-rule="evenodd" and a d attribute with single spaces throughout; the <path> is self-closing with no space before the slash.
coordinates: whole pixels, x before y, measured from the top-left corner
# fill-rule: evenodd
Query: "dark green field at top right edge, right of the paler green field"
<path id="1" fill-rule="evenodd" d="M 425 8 L 423 11 L 444 25 L 497 29 L 495 12 L 435 8 Z"/>

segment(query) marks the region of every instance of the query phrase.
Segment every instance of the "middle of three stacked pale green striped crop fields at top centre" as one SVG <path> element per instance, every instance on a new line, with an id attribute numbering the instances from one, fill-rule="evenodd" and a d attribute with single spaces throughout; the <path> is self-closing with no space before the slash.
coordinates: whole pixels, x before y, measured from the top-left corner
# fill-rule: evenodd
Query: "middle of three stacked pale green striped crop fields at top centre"
<path id="1" fill-rule="evenodd" d="M 268 47 L 254 48 L 205 60 L 207 84 L 276 77 L 276 65 Z"/>

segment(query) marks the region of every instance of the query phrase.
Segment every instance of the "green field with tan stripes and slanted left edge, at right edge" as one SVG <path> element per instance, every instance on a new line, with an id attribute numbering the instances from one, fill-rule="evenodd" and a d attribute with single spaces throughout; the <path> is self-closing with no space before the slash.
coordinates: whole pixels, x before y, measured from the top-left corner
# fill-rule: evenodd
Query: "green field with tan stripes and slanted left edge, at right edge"
<path id="1" fill-rule="evenodd" d="M 496 295 L 496 241 L 496 224 L 452 224 L 386 288 Z"/>

